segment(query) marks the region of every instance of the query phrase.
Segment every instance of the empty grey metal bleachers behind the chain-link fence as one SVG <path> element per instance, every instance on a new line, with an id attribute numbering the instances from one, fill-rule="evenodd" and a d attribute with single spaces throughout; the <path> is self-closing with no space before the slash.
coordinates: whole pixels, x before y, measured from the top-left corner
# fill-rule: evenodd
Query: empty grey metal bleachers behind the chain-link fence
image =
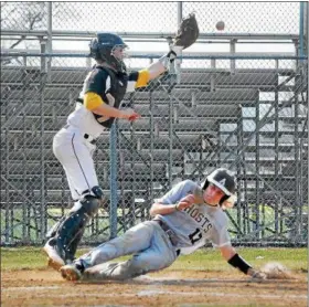
<path id="1" fill-rule="evenodd" d="M 7 202 L 22 205 L 24 194 L 35 203 L 42 197 L 42 189 L 47 205 L 66 205 L 70 191 L 62 167 L 53 156 L 52 138 L 73 110 L 87 72 L 87 68 L 52 67 L 46 76 L 39 67 L 2 67 L 1 93 L 6 104 L 1 108 L 1 173 L 7 179 L 1 184 L 2 207 Z M 124 105 L 134 106 L 142 118 L 134 125 L 118 121 L 119 203 L 126 201 L 125 207 L 129 207 L 128 202 L 142 198 L 145 203 L 135 205 L 136 215 L 147 215 L 152 197 L 166 192 L 173 180 L 201 179 L 204 170 L 221 165 L 235 166 L 245 202 L 276 199 L 267 184 L 278 189 L 278 184 L 274 184 L 277 181 L 285 200 L 292 202 L 297 184 L 295 171 L 301 167 L 296 165 L 303 161 L 295 160 L 295 144 L 288 139 L 296 134 L 303 139 L 306 150 L 301 157 L 305 157 L 308 151 L 305 140 L 308 131 L 302 129 L 306 118 L 278 114 L 265 124 L 264 130 L 254 133 L 244 130 L 243 120 L 257 123 L 258 118 L 244 116 L 243 109 L 274 104 L 260 99 L 260 92 L 296 91 L 295 85 L 278 87 L 279 77 L 295 75 L 290 68 L 247 68 L 234 74 L 227 70 L 184 68 L 180 84 L 171 87 L 167 80 L 128 94 Z M 279 105 L 291 114 L 290 102 L 281 100 Z M 281 123 L 278 131 L 267 128 L 276 120 Z M 299 124 L 297 133 L 296 123 Z M 225 129 L 226 125 L 233 125 L 233 129 Z M 253 134 L 259 142 L 253 139 L 239 148 Z M 230 141 L 224 145 L 222 140 L 226 138 Z M 274 155 L 254 156 L 262 150 Z M 99 138 L 95 161 L 100 186 L 108 194 L 108 133 Z M 259 168 L 264 168 L 264 172 L 259 173 Z M 265 171 L 267 169 L 269 171 Z M 257 193 L 260 179 L 266 186 Z"/>

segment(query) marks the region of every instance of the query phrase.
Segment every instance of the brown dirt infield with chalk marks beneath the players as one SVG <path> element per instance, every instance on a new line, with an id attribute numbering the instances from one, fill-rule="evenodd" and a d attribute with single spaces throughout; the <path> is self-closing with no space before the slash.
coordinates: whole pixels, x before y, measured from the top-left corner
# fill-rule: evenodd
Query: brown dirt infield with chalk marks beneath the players
<path id="1" fill-rule="evenodd" d="M 222 275 L 224 274 L 224 275 Z M 248 282 L 246 276 L 163 271 L 126 283 L 62 279 L 45 271 L 3 271 L 1 306 L 307 306 L 307 275 Z"/>

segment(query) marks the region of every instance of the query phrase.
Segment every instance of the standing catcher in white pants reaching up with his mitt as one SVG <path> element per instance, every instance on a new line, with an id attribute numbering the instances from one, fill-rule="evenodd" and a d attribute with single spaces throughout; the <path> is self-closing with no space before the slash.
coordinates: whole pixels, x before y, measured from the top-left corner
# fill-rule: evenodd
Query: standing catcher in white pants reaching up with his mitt
<path id="1" fill-rule="evenodd" d="M 193 30 L 194 28 L 194 30 Z M 194 15 L 184 19 L 168 54 L 139 72 L 127 72 L 124 59 L 127 45 L 113 33 L 97 33 L 89 44 L 95 66 L 84 81 L 76 108 L 66 125 L 53 138 L 53 152 L 62 163 L 74 207 L 47 233 L 43 251 L 49 265 L 55 269 L 75 257 L 78 243 L 88 221 L 97 213 L 105 195 L 99 187 L 93 152 L 96 139 L 109 130 L 115 118 L 137 120 L 140 115 L 121 108 L 128 92 L 145 87 L 164 73 L 182 49 L 192 44 L 199 34 Z"/>

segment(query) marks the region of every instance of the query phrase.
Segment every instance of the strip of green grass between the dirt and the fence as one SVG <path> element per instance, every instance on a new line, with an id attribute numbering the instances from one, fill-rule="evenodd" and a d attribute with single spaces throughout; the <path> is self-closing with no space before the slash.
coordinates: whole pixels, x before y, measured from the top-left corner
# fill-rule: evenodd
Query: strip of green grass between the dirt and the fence
<path id="1" fill-rule="evenodd" d="M 77 255 L 86 253 L 88 250 L 81 250 Z M 268 262 L 280 262 L 292 271 L 307 268 L 307 248 L 237 248 L 248 263 L 255 267 L 260 267 Z M 127 258 L 127 257 L 122 257 Z M 1 248 L 1 271 L 4 269 L 44 269 L 46 267 L 46 256 L 39 247 L 3 247 Z M 203 248 L 198 252 L 180 256 L 168 269 L 193 269 L 193 271 L 233 271 L 213 248 Z"/>

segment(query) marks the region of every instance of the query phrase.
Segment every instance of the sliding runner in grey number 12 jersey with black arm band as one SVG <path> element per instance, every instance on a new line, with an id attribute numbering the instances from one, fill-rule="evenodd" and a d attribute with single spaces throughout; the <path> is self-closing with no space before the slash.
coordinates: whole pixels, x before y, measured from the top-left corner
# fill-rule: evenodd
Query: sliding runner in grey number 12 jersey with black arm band
<path id="1" fill-rule="evenodd" d="M 254 269 L 232 247 L 222 209 L 233 207 L 234 201 L 235 177 L 226 169 L 216 169 L 201 186 L 182 181 L 152 204 L 151 221 L 139 223 L 124 235 L 93 248 L 63 266 L 61 274 L 67 280 L 124 280 L 163 269 L 180 254 L 193 253 L 211 241 L 228 264 L 253 278 L 264 279 L 265 274 Z M 134 254 L 128 261 L 107 263 L 128 254 Z"/>

